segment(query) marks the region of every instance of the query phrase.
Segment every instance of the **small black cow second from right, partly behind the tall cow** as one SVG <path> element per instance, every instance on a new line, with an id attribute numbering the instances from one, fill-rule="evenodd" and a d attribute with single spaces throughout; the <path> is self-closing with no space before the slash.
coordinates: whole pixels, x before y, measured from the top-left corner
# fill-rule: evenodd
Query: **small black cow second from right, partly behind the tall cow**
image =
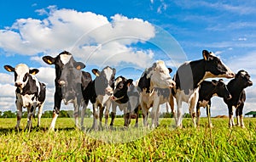
<path id="1" fill-rule="evenodd" d="M 197 118 L 197 126 L 199 124 L 199 117 L 201 115 L 200 108 L 207 107 L 207 116 L 209 119 L 209 127 L 212 127 L 211 121 L 211 98 L 213 96 L 218 96 L 219 98 L 224 98 L 226 100 L 232 98 L 230 92 L 225 85 L 223 79 L 219 79 L 218 81 L 202 81 L 199 87 L 199 98 L 196 104 L 196 118 Z"/>

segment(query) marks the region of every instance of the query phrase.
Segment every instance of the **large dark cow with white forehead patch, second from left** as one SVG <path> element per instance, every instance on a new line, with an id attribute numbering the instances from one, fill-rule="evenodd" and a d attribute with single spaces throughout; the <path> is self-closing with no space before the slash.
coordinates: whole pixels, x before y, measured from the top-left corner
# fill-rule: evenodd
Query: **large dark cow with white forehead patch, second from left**
<path id="1" fill-rule="evenodd" d="M 82 91 L 86 89 L 91 81 L 90 73 L 82 72 L 85 65 L 73 59 L 73 55 L 64 51 L 55 58 L 44 56 L 46 64 L 55 64 L 55 105 L 53 119 L 49 130 L 55 130 L 55 121 L 60 113 L 61 100 L 67 105 L 73 103 L 75 125 L 79 126 L 79 107 L 83 103 Z M 89 99 L 85 99 L 83 105 L 86 107 Z"/>

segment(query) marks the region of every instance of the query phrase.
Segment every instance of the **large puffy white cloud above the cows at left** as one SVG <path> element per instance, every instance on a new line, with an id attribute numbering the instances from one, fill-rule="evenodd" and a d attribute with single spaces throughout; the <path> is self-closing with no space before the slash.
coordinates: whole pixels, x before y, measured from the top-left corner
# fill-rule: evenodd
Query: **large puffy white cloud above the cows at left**
<path id="1" fill-rule="evenodd" d="M 112 58 L 114 65 L 126 62 L 130 54 L 136 57 L 143 55 L 145 63 L 151 62 L 149 51 L 140 50 L 137 53 L 137 49 L 132 47 L 137 42 L 147 42 L 154 37 L 154 26 L 148 21 L 129 19 L 121 14 L 115 14 L 108 20 L 101 14 L 57 9 L 55 6 L 37 12 L 48 17 L 44 20 L 16 20 L 11 27 L 0 30 L 0 47 L 5 52 L 55 56 L 67 50 L 79 59 L 90 58 L 90 64 L 103 63 L 106 58 L 123 53 L 122 57 Z M 36 57 L 32 59 L 39 61 Z M 139 59 L 132 63 L 142 66 Z"/>

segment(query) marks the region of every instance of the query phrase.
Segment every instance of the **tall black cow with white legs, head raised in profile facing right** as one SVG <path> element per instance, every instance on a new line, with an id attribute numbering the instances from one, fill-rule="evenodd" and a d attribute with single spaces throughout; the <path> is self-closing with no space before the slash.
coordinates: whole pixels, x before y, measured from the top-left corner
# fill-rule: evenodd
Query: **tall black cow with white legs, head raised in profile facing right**
<path id="1" fill-rule="evenodd" d="M 199 85 L 202 81 L 212 77 L 232 78 L 235 76 L 212 52 L 203 50 L 202 55 L 203 59 L 185 62 L 179 66 L 174 76 L 176 87 L 173 95 L 177 101 L 177 127 L 182 127 L 182 102 L 189 103 L 189 113 L 192 116 L 193 125 L 196 126 L 196 103 L 199 97 Z"/>

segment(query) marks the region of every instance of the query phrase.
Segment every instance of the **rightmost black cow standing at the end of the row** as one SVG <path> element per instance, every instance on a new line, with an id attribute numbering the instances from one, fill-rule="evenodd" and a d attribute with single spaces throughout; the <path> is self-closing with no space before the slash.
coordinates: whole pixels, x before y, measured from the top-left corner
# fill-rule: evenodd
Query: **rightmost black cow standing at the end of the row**
<path id="1" fill-rule="evenodd" d="M 229 126 L 235 126 L 233 118 L 233 109 L 236 109 L 237 126 L 244 127 L 242 120 L 242 109 L 246 101 L 245 88 L 253 86 L 253 81 L 250 80 L 250 75 L 245 70 L 240 70 L 236 77 L 232 79 L 227 87 L 232 96 L 231 99 L 225 99 L 224 102 L 228 105 L 230 121 Z"/>

